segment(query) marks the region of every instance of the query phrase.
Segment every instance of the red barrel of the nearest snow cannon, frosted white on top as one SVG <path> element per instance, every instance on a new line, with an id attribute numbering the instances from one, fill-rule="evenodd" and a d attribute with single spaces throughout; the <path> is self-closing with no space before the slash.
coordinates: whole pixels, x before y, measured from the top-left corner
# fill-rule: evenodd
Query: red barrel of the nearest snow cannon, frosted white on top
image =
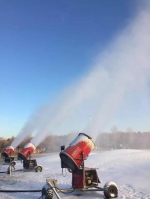
<path id="1" fill-rule="evenodd" d="M 72 171 L 77 171 L 89 153 L 94 149 L 92 138 L 84 133 L 79 135 L 70 145 L 60 152 L 62 162 Z"/>

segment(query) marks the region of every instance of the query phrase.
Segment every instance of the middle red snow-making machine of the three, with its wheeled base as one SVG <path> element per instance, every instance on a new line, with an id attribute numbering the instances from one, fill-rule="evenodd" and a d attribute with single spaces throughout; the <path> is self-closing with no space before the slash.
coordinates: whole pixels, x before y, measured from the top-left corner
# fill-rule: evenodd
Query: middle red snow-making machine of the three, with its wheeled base
<path id="1" fill-rule="evenodd" d="M 37 165 L 36 159 L 31 158 L 31 154 L 35 151 L 36 147 L 31 143 L 27 143 L 21 152 L 18 153 L 18 160 L 23 161 L 23 168 L 25 170 L 33 170 L 42 172 L 42 166 Z"/>

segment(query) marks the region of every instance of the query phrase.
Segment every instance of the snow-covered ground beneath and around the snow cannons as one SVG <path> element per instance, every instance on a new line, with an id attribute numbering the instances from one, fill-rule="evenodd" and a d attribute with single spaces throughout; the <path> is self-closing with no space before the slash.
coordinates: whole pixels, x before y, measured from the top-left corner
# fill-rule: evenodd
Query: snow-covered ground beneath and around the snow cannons
<path id="1" fill-rule="evenodd" d="M 59 153 L 37 158 L 38 165 L 43 171 L 12 172 L 11 175 L 0 174 L 0 189 L 42 189 L 46 179 L 57 180 L 58 187 L 71 188 L 71 173 L 64 170 L 63 176 L 60 167 Z M 148 150 L 113 150 L 91 153 L 85 161 L 85 166 L 98 168 L 100 186 L 108 181 L 118 185 L 119 199 L 150 199 L 150 151 Z M 0 165 L 0 171 L 6 171 L 8 165 Z M 16 169 L 22 168 L 20 162 Z M 60 194 L 63 199 L 101 199 L 103 192 L 77 192 Z M 38 199 L 41 193 L 0 193 L 4 199 Z M 56 196 L 53 197 L 54 199 Z"/>

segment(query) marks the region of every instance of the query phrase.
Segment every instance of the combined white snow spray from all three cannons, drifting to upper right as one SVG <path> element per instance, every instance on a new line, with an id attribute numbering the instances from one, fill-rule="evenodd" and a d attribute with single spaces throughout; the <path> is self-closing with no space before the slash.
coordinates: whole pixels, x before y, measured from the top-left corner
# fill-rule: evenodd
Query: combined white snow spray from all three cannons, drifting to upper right
<path id="1" fill-rule="evenodd" d="M 88 74 L 60 95 L 52 107 L 48 105 L 41 108 L 31 118 L 20 132 L 18 141 L 14 141 L 15 145 L 24 136 L 34 132 L 35 137 L 31 142 L 38 146 L 69 117 L 76 116 L 75 123 L 78 126 L 81 123 L 79 108 L 88 112 L 89 116 L 92 115 L 91 121 L 85 123 L 80 130 L 84 129 L 83 132 L 95 139 L 124 101 L 126 94 L 142 93 L 147 88 L 150 76 L 149 21 L 150 4 L 147 4 L 147 8 L 139 12 L 129 26 L 98 56 Z"/>

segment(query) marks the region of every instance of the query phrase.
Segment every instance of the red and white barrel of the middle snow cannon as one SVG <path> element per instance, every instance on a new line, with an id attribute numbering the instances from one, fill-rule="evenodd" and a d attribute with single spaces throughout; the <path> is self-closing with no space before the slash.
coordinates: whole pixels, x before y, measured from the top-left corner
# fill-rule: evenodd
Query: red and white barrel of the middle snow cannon
<path id="1" fill-rule="evenodd" d="M 18 153 L 18 159 L 27 160 L 29 156 L 35 151 L 36 147 L 31 143 L 27 143 L 21 152 Z"/>

